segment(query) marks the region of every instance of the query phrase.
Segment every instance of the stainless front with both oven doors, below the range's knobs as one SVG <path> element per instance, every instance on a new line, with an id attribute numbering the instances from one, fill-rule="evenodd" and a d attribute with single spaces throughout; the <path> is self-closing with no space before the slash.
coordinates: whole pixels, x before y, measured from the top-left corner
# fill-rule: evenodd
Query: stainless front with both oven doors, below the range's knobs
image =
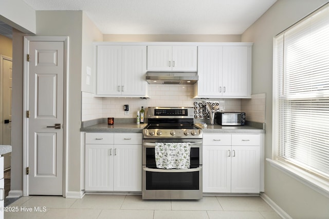
<path id="1" fill-rule="evenodd" d="M 156 142 L 189 142 L 189 169 L 159 169 L 155 162 Z M 202 198 L 202 139 L 143 140 L 142 198 L 157 200 L 197 200 Z"/>

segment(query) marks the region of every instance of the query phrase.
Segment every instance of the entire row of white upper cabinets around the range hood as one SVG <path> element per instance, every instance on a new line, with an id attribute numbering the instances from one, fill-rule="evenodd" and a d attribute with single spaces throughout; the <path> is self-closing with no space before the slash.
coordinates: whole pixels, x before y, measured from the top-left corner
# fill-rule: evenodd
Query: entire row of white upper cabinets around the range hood
<path id="1" fill-rule="evenodd" d="M 95 43 L 96 94 L 148 97 L 147 71 L 196 72 L 194 98 L 250 98 L 252 43 Z"/>

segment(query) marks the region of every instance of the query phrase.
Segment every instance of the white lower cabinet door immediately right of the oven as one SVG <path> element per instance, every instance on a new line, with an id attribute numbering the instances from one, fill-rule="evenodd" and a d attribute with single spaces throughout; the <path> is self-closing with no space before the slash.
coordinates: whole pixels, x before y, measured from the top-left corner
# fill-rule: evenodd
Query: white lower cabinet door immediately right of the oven
<path id="1" fill-rule="evenodd" d="M 231 146 L 203 146 L 203 192 L 231 192 Z"/>

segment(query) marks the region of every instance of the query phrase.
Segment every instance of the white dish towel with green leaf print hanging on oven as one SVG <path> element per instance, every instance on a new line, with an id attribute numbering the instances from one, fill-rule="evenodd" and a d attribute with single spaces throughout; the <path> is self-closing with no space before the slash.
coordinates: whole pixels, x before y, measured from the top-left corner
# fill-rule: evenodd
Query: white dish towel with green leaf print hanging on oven
<path id="1" fill-rule="evenodd" d="M 160 169 L 189 169 L 190 143 L 155 143 L 155 162 Z"/>

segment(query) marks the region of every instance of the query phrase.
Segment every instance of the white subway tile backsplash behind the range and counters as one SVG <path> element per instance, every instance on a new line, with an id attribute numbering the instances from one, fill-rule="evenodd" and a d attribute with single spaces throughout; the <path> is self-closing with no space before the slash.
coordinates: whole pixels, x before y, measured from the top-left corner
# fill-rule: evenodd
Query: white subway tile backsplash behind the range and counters
<path id="1" fill-rule="evenodd" d="M 193 85 L 149 85 L 148 99 L 131 97 L 94 97 L 92 93 L 82 92 L 82 121 L 97 118 L 135 118 L 137 110 L 148 107 L 194 107 Z M 207 99 L 211 101 L 211 99 Z M 220 103 L 224 112 L 240 112 L 241 99 L 214 99 Z M 124 115 L 123 105 L 129 105 L 129 115 Z M 264 113 L 265 114 L 265 113 Z M 256 122 L 256 121 L 255 121 Z"/>

